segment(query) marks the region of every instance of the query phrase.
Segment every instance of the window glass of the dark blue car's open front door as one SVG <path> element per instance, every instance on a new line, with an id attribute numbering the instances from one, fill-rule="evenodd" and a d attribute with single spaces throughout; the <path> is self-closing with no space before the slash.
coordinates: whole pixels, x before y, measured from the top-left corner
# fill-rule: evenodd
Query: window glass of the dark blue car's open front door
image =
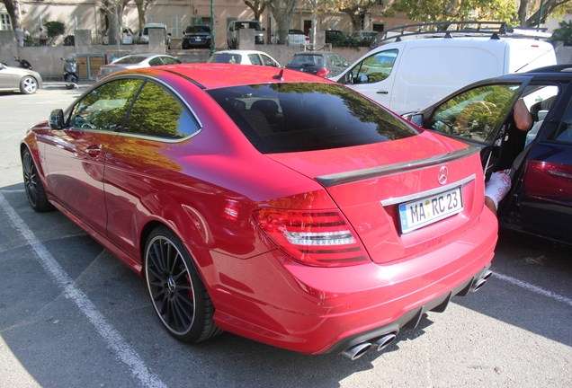
<path id="1" fill-rule="evenodd" d="M 481 86 L 444 102 L 429 123 L 433 130 L 492 144 L 496 128 L 513 108 L 519 84 Z"/>

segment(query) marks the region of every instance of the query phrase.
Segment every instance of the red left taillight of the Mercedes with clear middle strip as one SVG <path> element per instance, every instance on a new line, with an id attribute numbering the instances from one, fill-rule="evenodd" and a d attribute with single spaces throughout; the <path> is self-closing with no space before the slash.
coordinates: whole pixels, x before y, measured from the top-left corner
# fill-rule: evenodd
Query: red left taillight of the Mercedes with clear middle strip
<path id="1" fill-rule="evenodd" d="M 264 233 L 302 264 L 343 267 L 369 261 L 337 210 L 263 208 L 254 216 Z"/>

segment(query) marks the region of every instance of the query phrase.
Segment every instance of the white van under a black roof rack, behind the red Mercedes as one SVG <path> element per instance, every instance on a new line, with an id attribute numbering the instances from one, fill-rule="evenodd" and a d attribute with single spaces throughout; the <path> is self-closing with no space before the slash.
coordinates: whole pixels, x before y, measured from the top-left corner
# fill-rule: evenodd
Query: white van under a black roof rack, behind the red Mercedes
<path id="1" fill-rule="evenodd" d="M 556 65 L 554 48 L 542 40 L 427 36 L 374 48 L 333 79 L 403 114 L 484 78 Z"/>

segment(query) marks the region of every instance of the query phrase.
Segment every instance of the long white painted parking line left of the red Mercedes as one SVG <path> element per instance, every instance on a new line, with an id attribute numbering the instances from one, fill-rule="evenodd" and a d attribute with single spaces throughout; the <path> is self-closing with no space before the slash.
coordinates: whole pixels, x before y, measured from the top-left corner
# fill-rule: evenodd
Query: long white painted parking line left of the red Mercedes
<path id="1" fill-rule="evenodd" d="M 60 287 L 64 295 L 72 300 L 79 310 L 84 313 L 85 317 L 92 322 L 95 330 L 103 337 L 108 348 L 111 348 L 117 357 L 128 366 L 131 373 L 139 379 L 139 382 L 147 387 L 166 387 L 166 385 L 156 376 L 147 370 L 147 366 L 139 357 L 137 352 L 130 347 L 130 344 L 121 337 L 119 331 L 107 321 L 102 313 L 100 313 L 93 302 L 79 288 L 76 287 L 74 280 L 67 275 L 67 272 L 61 268 L 58 261 L 49 253 L 36 236 L 31 232 L 30 228 L 24 224 L 22 218 L 18 216 L 13 207 L 10 206 L 4 195 L 0 193 L 0 206 L 8 218 L 12 221 L 13 227 L 16 228 L 22 237 L 30 244 L 33 253 L 40 261 L 40 265 L 49 276 Z"/>

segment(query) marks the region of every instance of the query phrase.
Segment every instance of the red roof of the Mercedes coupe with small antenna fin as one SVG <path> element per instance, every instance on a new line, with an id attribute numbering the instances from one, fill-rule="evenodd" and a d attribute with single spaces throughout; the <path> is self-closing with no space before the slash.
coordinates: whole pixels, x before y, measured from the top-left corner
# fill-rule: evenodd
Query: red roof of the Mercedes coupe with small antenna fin
<path id="1" fill-rule="evenodd" d="M 253 70 L 255 67 L 255 70 Z M 192 80 L 204 89 L 238 86 L 244 84 L 280 84 L 282 82 L 332 83 L 325 78 L 296 70 L 273 66 L 245 66 L 226 63 L 193 63 L 133 69 L 126 74 L 160 75 L 160 72 L 179 75 Z"/>

